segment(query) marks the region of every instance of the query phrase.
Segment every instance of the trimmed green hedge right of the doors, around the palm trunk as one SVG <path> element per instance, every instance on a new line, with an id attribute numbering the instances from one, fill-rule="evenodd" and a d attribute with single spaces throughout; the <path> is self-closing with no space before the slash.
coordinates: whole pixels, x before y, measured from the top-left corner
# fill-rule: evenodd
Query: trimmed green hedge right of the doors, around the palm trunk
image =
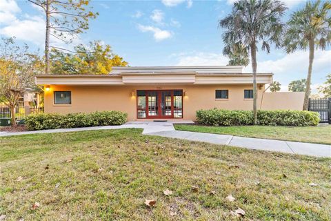
<path id="1" fill-rule="evenodd" d="M 220 109 L 197 111 L 197 122 L 209 126 L 243 126 L 253 124 L 252 111 Z M 257 111 L 257 124 L 268 126 L 316 126 L 319 113 L 312 111 Z"/>

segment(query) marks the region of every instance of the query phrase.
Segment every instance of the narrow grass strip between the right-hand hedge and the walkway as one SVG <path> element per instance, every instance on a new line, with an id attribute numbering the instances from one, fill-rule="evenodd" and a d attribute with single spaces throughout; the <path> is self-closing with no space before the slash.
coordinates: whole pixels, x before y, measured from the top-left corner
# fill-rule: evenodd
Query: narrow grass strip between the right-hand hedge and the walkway
<path id="1" fill-rule="evenodd" d="M 174 124 L 176 130 L 331 144 L 331 126 L 201 126 Z"/>

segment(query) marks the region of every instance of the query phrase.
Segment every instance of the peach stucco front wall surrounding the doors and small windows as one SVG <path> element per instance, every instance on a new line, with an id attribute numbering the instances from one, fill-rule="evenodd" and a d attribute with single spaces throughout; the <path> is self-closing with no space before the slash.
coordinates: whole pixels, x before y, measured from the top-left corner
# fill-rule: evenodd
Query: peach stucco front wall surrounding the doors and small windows
<path id="1" fill-rule="evenodd" d="M 183 119 L 195 119 L 199 109 L 223 108 L 229 110 L 251 110 L 252 99 L 243 98 L 244 89 L 252 89 L 252 85 L 174 85 L 174 86 L 50 86 L 46 92 L 46 113 L 88 113 L 92 111 L 116 110 L 128 113 L 128 120 L 137 120 L 136 97 L 132 90 L 164 90 L 182 89 Z M 215 99 L 215 90 L 229 90 L 229 99 Z M 71 105 L 54 105 L 54 91 L 70 90 Z M 258 90 L 258 104 L 264 87 Z"/>

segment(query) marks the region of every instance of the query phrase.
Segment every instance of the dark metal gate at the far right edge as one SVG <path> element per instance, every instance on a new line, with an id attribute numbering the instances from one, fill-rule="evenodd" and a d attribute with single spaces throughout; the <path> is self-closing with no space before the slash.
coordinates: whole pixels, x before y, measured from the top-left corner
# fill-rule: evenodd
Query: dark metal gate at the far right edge
<path id="1" fill-rule="evenodd" d="M 308 111 L 319 113 L 320 123 L 331 124 L 331 97 L 330 98 L 310 98 Z"/>

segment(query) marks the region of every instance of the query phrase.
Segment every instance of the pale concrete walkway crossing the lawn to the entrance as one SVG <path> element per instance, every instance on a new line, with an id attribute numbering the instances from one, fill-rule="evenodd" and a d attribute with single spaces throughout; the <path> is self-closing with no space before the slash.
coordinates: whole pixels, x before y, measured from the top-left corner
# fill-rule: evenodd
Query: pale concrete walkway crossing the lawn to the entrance
<path id="1" fill-rule="evenodd" d="M 25 131 L 7 133 L 0 132 L 1 136 L 25 135 L 34 133 L 61 133 L 73 131 L 109 130 L 121 128 L 143 128 L 144 135 L 156 135 L 161 137 L 171 137 L 197 142 L 208 142 L 211 144 L 221 144 L 228 146 L 239 146 L 263 151 L 276 151 L 281 153 L 294 153 L 300 155 L 311 155 L 315 157 L 331 157 L 331 145 L 310 144 L 303 142 L 288 142 L 281 140 L 268 140 L 249 137 L 236 137 L 232 135 L 218 135 L 212 133 L 197 133 L 190 131 L 176 131 L 173 124 L 192 124 L 192 121 L 168 121 L 168 122 L 127 122 L 120 126 L 95 126 L 87 128 L 68 128 L 45 131 Z"/>

